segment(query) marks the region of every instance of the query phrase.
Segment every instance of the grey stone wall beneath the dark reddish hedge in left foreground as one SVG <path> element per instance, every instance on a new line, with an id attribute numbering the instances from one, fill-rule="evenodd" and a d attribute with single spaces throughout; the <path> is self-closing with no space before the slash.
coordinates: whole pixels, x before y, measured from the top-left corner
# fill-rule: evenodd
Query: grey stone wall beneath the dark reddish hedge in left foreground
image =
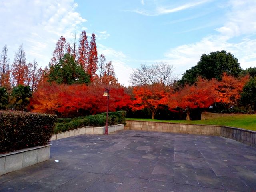
<path id="1" fill-rule="evenodd" d="M 0 175 L 49 160 L 51 144 L 0 154 Z"/>

